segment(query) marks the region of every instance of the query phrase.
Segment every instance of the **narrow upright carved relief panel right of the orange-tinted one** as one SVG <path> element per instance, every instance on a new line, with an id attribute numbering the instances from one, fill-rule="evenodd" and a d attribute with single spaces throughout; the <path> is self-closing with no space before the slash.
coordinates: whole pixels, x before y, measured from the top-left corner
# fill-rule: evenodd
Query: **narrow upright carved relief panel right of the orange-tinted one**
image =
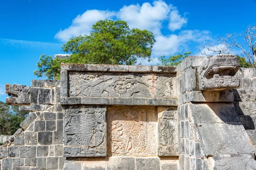
<path id="1" fill-rule="evenodd" d="M 158 107 L 158 155 L 178 155 L 177 108 Z"/>

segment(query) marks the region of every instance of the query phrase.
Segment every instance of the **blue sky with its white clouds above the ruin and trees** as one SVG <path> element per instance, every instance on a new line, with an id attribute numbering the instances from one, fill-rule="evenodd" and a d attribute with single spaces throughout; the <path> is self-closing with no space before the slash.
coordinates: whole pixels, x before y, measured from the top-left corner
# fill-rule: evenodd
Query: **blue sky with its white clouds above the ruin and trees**
<path id="1" fill-rule="evenodd" d="M 161 55 L 192 51 L 200 42 L 241 32 L 256 23 L 256 0 L 0 0 L 0 101 L 5 84 L 30 86 L 41 54 L 61 54 L 70 37 L 88 34 L 93 23 L 120 19 L 148 29 L 157 40 L 151 63 Z"/>

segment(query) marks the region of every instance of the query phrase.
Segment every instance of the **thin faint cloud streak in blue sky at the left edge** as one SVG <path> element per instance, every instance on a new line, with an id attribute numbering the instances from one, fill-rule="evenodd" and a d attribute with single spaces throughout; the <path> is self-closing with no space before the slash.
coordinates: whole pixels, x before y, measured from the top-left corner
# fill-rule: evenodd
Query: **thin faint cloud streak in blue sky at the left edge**
<path id="1" fill-rule="evenodd" d="M 0 44 L 3 45 L 19 45 L 21 47 L 59 47 L 61 43 L 52 42 L 39 42 L 39 41 L 26 41 L 26 40 L 13 40 L 13 39 L 0 39 Z"/>

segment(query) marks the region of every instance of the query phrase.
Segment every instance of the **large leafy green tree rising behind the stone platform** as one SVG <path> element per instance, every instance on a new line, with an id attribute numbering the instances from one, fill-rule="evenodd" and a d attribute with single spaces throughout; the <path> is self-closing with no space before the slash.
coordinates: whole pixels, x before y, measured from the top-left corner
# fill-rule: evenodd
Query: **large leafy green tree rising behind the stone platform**
<path id="1" fill-rule="evenodd" d="M 90 35 L 71 38 L 61 49 L 72 53 L 69 59 L 52 59 L 41 55 L 34 74 L 59 79 L 60 63 L 125 64 L 134 65 L 137 58 L 151 60 L 155 39 L 152 32 L 129 29 L 122 20 L 100 20 Z"/>

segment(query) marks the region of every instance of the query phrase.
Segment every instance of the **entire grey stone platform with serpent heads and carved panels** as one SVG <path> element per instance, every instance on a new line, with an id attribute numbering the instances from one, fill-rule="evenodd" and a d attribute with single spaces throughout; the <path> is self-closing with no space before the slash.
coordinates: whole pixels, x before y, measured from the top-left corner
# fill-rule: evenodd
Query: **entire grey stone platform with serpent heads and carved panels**
<path id="1" fill-rule="evenodd" d="M 0 148 L 2 170 L 256 169 L 256 69 L 232 55 L 61 64 L 60 81 L 6 93 L 30 113 Z"/>

